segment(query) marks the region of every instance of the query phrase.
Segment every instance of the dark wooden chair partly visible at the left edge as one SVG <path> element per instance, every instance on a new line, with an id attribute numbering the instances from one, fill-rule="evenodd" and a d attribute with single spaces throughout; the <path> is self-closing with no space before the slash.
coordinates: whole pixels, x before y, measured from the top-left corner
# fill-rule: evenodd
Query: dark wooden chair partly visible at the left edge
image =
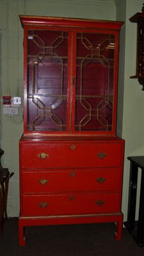
<path id="1" fill-rule="evenodd" d="M 0 148 L 0 235 L 3 235 L 3 223 L 4 216 L 5 220 L 8 219 L 8 214 L 6 211 L 7 199 L 8 199 L 8 184 L 10 178 L 13 176 L 13 172 L 9 172 L 8 168 L 3 168 L 1 165 L 1 156 L 3 156 L 4 151 Z"/>

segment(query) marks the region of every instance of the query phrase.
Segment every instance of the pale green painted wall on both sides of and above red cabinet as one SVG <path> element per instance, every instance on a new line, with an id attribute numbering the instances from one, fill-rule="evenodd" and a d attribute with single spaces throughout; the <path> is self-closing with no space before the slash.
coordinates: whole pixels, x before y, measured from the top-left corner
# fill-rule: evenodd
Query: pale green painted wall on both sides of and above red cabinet
<path id="1" fill-rule="evenodd" d="M 10 87 L 10 93 L 23 95 L 23 29 L 19 14 L 77 17 L 103 20 L 126 20 L 120 34 L 119 108 L 117 132 L 126 140 L 124 188 L 122 211 L 127 212 L 127 187 L 129 163 L 127 156 L 143 154 L 143 97 L 138 81 L 129 79 L 135 72 L 136 24 L 129 22 L 136 12 L 141 12 L 142 0 L 0 0 L 1 28 L 1 95 Z M 125 55 L 126 54 L 126 55 Z M 123 108 L 124 104 L 124 108 Z M 8 215 L 19 213 L 18 141 L 23 131 L 22 106 L 15 118 L 3 115 L 1 108 L 0 139 L 4 150 L 3 165 L 15 172 L 10 180 Z"/>

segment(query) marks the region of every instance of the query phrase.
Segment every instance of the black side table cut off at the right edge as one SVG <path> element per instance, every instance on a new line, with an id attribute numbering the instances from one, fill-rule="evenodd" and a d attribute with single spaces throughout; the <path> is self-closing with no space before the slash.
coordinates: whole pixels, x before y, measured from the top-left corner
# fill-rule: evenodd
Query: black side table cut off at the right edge
<path id="1" fill-rule="evenodd" d="M 144 246 L 144 156 L 131 156 L 127 157 L 127 159 L 129 159 L 131 163 L 127 221 L 124 222 L 124 225 L 133 236 L 138 246 Z M 135 221 L 138 168 L 141 169 L 140 205 L 138 221 Z"/>

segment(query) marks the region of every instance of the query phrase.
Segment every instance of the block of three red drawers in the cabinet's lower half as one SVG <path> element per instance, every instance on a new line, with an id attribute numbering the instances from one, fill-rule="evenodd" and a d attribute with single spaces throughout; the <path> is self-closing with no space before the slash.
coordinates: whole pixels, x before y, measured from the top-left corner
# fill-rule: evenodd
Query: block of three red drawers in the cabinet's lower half
<path id="1" fill-rule="evenodd" d="M 21 143 L 20 214 L 120 212 L 122 143 Z"/>

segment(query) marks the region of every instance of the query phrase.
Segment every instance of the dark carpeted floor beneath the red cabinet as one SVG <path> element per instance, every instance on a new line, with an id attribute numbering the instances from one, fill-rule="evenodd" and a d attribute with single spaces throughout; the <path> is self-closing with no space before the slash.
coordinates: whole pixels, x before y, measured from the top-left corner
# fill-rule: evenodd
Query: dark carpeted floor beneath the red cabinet
<path id="1" fill-rule="evenodd" d="M 18 218 L 4 222 L 0 237 L 1 256 L 143 256 L 123 228 L 122 240 L 115 241 L 114 223 L 26 227 L 26 245 L 18 245 Z"/>

